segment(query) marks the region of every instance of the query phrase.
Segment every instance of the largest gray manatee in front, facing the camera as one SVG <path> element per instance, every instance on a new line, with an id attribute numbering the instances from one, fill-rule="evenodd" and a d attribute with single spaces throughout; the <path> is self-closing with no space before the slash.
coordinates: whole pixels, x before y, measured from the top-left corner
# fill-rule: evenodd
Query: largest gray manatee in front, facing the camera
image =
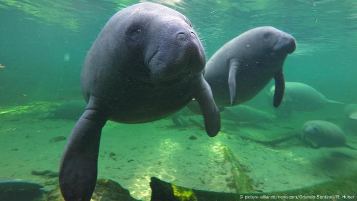
<path id="1" fill-rule="evenodd" d="M 219 111 L 203 79 L 205 53 L 190 21 L 165 6 L 141 3 L 116 13 L 85 59 L 82 90 L 88 106 L 62 156 L 60 187 L 66 200 L 90 200 L 97 176 L 101 129 L 107 120 L 154 121 L 192 98 L 209 136 L 220 130 Z"/>

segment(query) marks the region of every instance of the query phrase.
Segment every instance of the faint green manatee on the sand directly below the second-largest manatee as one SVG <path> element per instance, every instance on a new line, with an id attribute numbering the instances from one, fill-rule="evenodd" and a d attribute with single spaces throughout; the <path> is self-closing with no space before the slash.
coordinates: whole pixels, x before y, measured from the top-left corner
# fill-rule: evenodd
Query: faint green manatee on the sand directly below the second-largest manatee
<path id="1" fill-rule="evenodd" d="M 272 122 L 273 115 L 250 106 L 238 105 L 221 111 L 221 118 L 235 122 Z"/>

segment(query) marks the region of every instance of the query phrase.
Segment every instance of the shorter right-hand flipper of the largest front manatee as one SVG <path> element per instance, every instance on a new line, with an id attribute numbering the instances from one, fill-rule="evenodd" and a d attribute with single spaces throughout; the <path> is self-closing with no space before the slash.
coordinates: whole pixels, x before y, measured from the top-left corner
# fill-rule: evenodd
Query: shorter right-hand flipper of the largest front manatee
<path id="1" fill-rule="evenodd" d="M 197 81 L 193 96 L 201 108 L 207 134 L 210 137 L 216 136 L 221 130 L 221 118 L 213 99 L 211 87 L 203 78 L 203 75 L 201 75 L 201 78 Z"/>

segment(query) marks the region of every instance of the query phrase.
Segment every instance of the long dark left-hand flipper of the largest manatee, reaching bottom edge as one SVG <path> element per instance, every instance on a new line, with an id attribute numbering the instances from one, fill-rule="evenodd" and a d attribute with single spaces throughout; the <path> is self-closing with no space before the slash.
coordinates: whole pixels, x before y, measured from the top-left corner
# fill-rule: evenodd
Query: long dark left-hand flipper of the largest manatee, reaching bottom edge
<path id="1" fill-rule="evenodd" d="M 90 200 L 95 187 L 100 134 L 108 116 L 99 103 L 98 98 L 89 97 L 62 156 L 59 181 L 67 201 Z"/>

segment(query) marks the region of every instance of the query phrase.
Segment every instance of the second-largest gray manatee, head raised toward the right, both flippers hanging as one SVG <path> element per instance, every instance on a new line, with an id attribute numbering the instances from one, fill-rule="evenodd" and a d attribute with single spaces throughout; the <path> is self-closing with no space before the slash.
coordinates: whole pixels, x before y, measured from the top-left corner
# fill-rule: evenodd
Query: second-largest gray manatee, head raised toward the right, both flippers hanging
<path id="1" fill-rule="evenodd" d="M 296 48 L 295 39 L 273 27 L 251 29 L 224 44 L 207 62 L 205 79 L 218 108 L 242 104 L 274 78 L 274 107 L 284 94 L 283 65 Z"/>

